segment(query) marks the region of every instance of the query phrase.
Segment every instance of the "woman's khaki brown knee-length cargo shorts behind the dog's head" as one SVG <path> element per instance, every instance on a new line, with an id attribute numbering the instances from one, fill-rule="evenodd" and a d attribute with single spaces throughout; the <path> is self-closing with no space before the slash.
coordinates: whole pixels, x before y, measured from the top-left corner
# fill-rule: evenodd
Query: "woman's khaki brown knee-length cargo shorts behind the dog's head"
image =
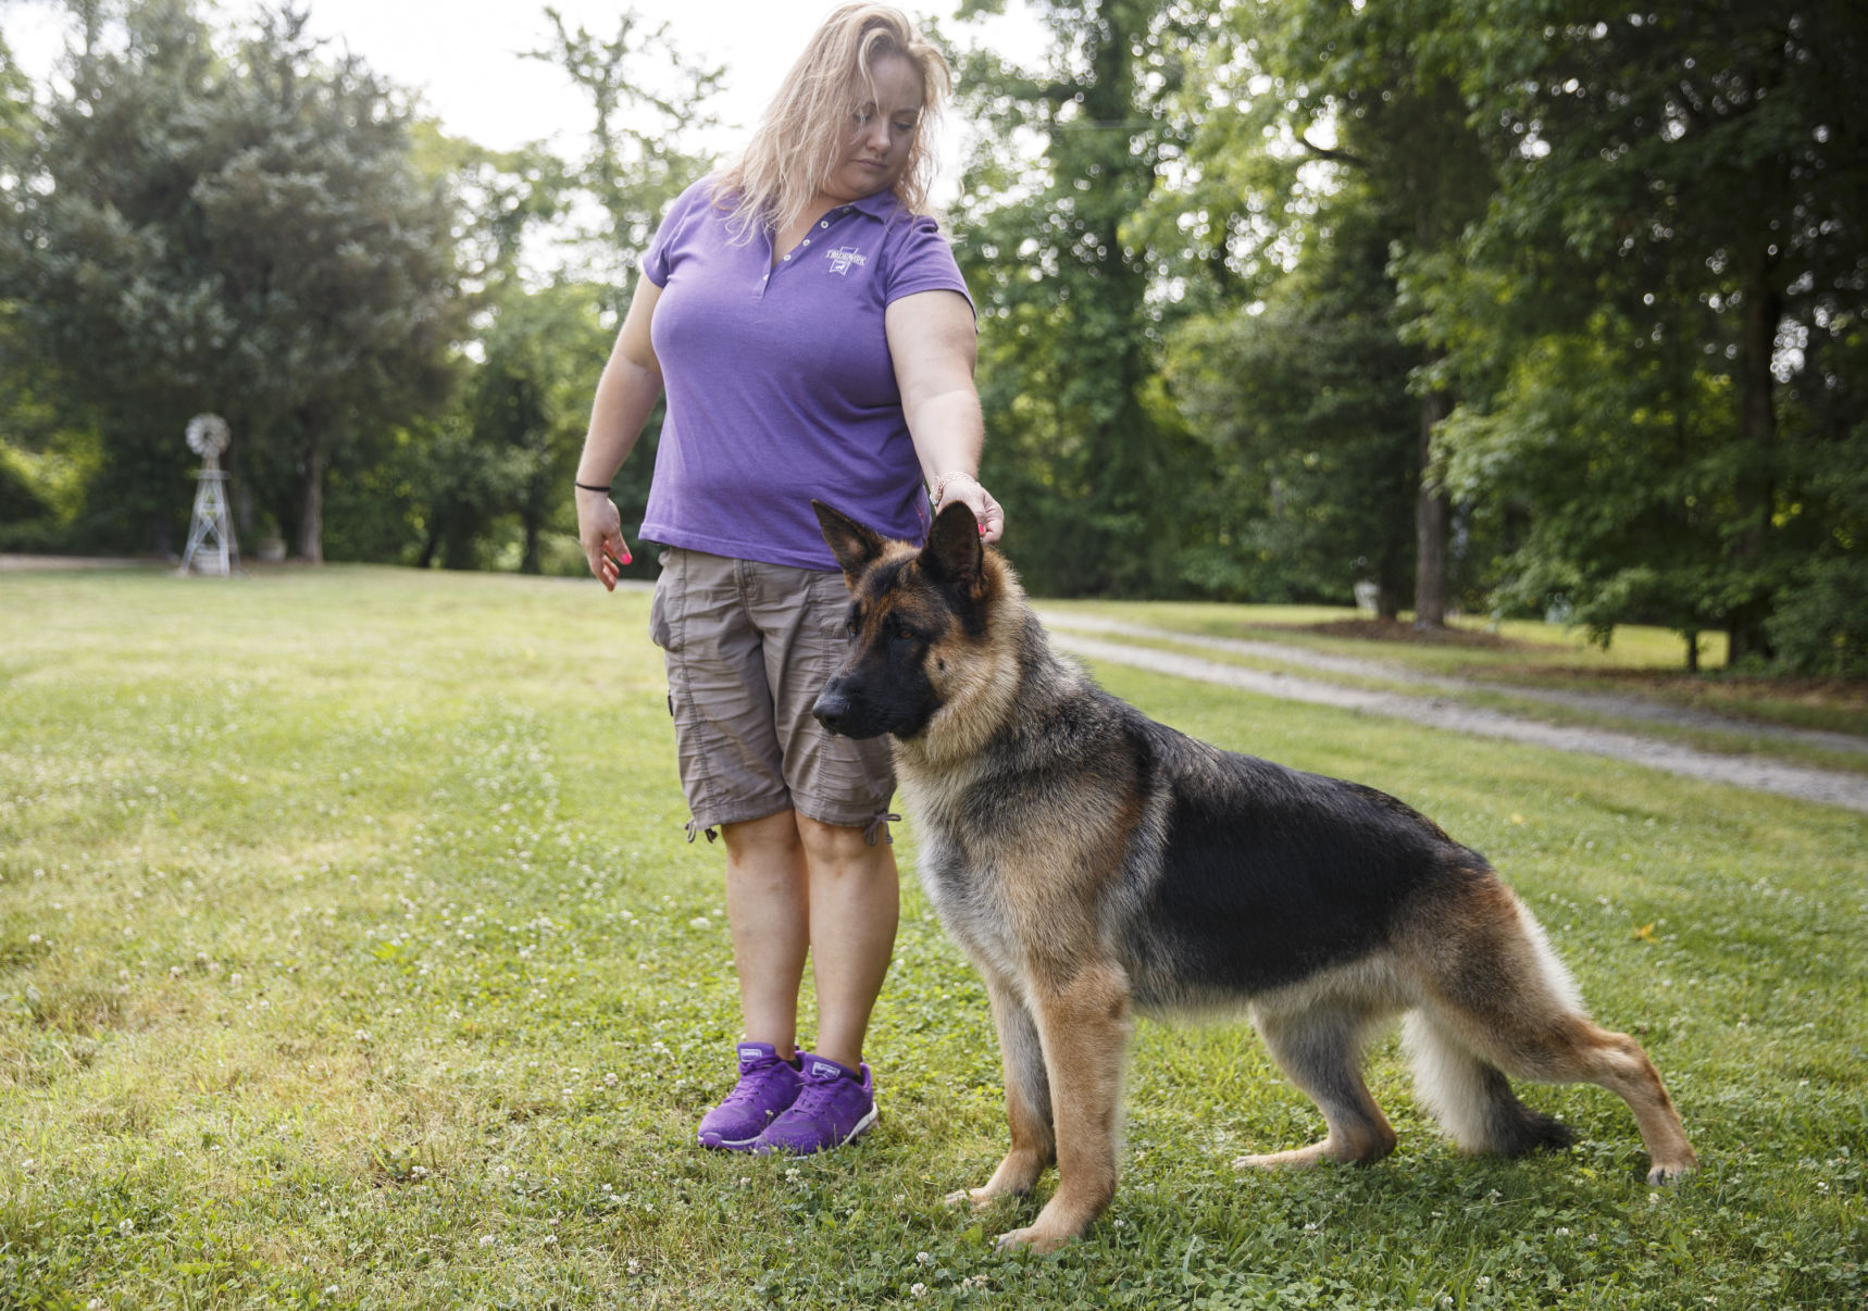
<path id="1" fill-rule="evenodd" d="M 835 738 L 811 706 L 848 648 L 841 573 L 669 549 L 648 631 L 669 670 L 687 840 L 794 809 L 887 839 L 887 738 Z"/>

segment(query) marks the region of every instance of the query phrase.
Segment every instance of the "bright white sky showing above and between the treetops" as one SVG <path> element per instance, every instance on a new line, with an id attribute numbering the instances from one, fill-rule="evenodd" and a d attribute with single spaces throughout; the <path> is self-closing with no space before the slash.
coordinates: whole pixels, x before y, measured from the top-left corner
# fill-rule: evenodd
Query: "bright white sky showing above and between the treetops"
<path id="1" fill-rule="evenodd" d="M 549 0 L 566 26 L 613 37 L 630 0 Z M 445 131 L 506 149 L 555 140 L 573 149 L 588 131 L 590 112 L 570 80 L 549 63 L 519 58 L 544 49 L 551 32 L 547 0 L 306 0 L 310 30 L 331 37 L 400 86 L 418 90 Z M 220 0 L 230 21 L 258 11 L 256 0 Z M 725 65 L 714 110 L 723 120 L 717 142 L 730 151 L 757 121 L 785 69 L 803 49 L 835 0 L 633 0 L 648 24 L 667 22 L 674 49 L 691 63 Z M 912 17 L 951 21 L 955 0 L 904 6 Z M 1042 49 L 1040 28 L 1012 0 L 1012 13 L 977 30 L 1009 54 Z M 45 77 L 65 45 L 69 24 L 56 0 L 0 0 L 0 22 L 19 63 Z M 941 159 L 958 162 L 960 125 L 949 123 Z"/>

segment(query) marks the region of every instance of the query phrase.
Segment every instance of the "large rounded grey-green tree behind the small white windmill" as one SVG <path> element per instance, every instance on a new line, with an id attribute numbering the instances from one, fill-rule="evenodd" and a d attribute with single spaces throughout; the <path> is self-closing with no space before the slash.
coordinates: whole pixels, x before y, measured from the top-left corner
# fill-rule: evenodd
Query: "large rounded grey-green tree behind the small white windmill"
<path id="1" fill-rule="evenodd" d="M 166 545 L 181 426 L 217 409 L 245 493 L 319 560 L 329 465 L 450 385 L 454 217 L 402 99 L 321 62 L 303 11 L 222 58 L 189 0 L 148 0 L 75 58 L 9 190 L 0 289 L 95 407 L 118 536 Z"/>

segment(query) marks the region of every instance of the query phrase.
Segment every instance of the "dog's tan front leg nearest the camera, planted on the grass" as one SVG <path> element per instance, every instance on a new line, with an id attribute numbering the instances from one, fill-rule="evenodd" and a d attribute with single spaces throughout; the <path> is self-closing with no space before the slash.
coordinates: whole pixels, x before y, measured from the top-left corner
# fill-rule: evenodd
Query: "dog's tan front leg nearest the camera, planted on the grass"
<path id="1" fill-rule="evenodd" d="M 1027 1229 L 999 1234 L 1001 1248 L 1054 1251 L 1082 1234 L 1115 1195 L 1123 1057 L 1128 1050 L 1128 980 L 1108 962 L 1082 966 L 1033 995 L 1057 1132 L 1057 1191 Z"/>

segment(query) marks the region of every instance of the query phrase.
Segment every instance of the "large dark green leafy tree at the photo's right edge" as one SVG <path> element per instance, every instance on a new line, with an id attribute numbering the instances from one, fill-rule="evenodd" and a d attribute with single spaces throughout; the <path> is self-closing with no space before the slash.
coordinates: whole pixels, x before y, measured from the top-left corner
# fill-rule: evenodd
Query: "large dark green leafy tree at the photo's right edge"
<path id="1" fill-rule="evenodd" d="M 1478 9 L 1468 95 L 1509 166 L 1422 295 L 1472 383 L 1455 476 L 1532 521 L 1513 592 L 1562 594 L 1597 633 L 1674 624 L 1689 659 L 1719 626 L 1747 661 L 1810 588 L 1793 613 L 1859 650 L 1836 598 L 1868 594 L 1842 472 L 1862 463 L 1861 24 L 1558 4 L 1541 41 L 1506 41 L 1526 7 Z"/>

